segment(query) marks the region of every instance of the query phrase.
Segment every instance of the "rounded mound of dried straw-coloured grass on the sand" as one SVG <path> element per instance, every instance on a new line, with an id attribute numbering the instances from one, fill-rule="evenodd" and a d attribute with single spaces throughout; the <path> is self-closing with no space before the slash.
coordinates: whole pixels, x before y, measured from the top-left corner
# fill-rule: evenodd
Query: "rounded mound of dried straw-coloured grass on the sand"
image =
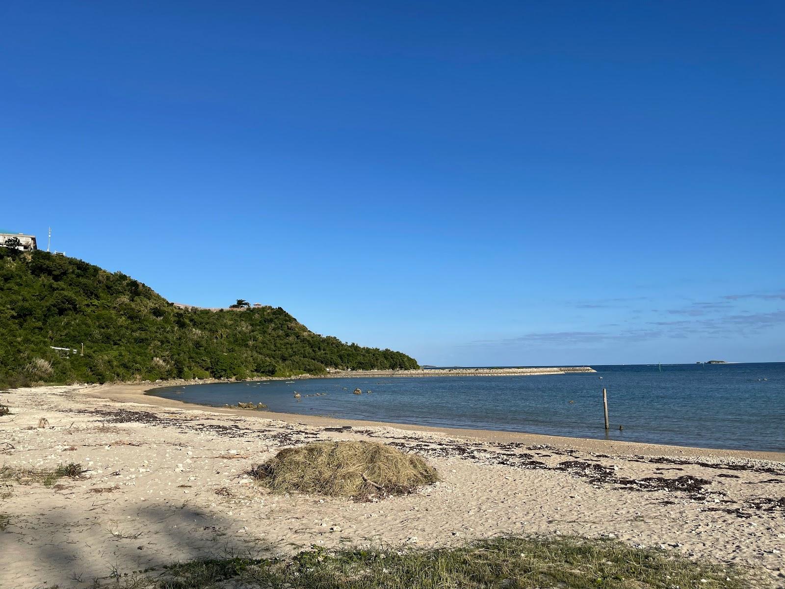
<path id="1" fill-rule="evenodd" d="M 285 448 L 251 471 L 273 492 L 377 499 L 439 480 L 418 455 L 368 441 L 314 442 Z"/>

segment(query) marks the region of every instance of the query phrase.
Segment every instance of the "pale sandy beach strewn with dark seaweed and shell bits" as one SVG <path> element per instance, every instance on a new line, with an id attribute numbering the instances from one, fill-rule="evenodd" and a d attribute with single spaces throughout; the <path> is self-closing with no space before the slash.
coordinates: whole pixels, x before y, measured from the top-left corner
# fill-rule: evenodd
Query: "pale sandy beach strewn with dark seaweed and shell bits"
<path id="1" fill-rule="evenodd" d="M 88 469 L 50 487 L 0 481 L 0 587 L 89 587 L 173 561 L 312 544 L 430 547 L 540 533 L 663 547 L 785 586 L 781 452 L 206 408 L 145 396 L 150 387 L 0 394 L 12 412 L 0 417 L 0 466 Z M 280 448 L 334 439 L 418 452 L 443 480 L 355 503 L 272 495 L 247 475 Z"/>

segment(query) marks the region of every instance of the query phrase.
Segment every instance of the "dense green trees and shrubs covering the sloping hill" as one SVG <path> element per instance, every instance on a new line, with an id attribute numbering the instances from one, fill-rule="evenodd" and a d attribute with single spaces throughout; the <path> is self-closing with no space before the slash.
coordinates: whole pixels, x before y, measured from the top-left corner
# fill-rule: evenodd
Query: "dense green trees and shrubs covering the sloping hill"
<path id="1" fill-rule="evenodd" d="M 79 353 L 61 357 L 50 346 Z M 0 247 L 0 382 L 6 386 L 264 378 L 326 368 L 417 368 L 417 362 L 317 335 L 281 308 L 180 309 L 122 273 Z"/>

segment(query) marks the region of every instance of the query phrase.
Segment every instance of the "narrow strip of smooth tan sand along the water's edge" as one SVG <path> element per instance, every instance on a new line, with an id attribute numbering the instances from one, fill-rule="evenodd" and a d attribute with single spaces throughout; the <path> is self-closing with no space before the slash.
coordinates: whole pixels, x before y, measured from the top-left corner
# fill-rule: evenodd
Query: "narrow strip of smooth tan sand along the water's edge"
<path id="1" fill-rule="evenodd" d="M 179 384 L 179 383 L 177 383 Z M 766 460 L 785 463 L 785 452 L 766 450 L 738 450 L 732 448 L 699 448 L 692 446 L 679 446 L 675 444 L 651 444 L 646 442 L 602 440 L 590 437 L 553 436 L 549 434 L 528 434 L 525 432 L 510 432 L 504 430 L 473 430 L 469 428 L 420 426 L 409 423 L 380 422 L 366 419 L 343 419 L 335 417 L 321 417 L 319 415 L 304 415 L 300 413 L 272 412 L 269 410 L 257 411 L 250 409 L 214 407 L 198 403 L 188 403 L 177 399 L 157 397 L 152 391 L 172 386 L 170 382 L 155 383 L 150 385 L 99 385 L 82 389 L 83 394 L 90 397 L 109 399 L 120 403 L 149 404 L 162 408 L 199 408 L 205 412 L 214 412 L 222 415 L 239 415 L 243 417 L 257 417 L 259 419 L 276 419 L 286 423 L 320 426 L 320 427 L 394 427 L 396 430 L 408 430 L 429 434 L 444 434 L 450 437 L 460 437 L 469 441 L 484 441 L 500 444 L 550 444 L 560 448 L 573 448 L 582 452 L 602 452 L 611 455 L 630 456 L 702 456 L 712 458 L 731 458 L 747 460 Z M 155 400 L 155 401 L 153 401 Z"/>

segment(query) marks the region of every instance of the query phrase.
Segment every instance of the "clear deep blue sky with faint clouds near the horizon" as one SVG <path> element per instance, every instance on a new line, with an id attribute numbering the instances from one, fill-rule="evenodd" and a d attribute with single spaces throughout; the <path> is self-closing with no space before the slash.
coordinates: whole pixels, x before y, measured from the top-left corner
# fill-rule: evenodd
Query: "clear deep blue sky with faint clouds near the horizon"
<path id="1" fill-rule="evenodd" d="M 785 2 L 2 2 L 0 227 L 424 364 L 785 360 Z"/>

